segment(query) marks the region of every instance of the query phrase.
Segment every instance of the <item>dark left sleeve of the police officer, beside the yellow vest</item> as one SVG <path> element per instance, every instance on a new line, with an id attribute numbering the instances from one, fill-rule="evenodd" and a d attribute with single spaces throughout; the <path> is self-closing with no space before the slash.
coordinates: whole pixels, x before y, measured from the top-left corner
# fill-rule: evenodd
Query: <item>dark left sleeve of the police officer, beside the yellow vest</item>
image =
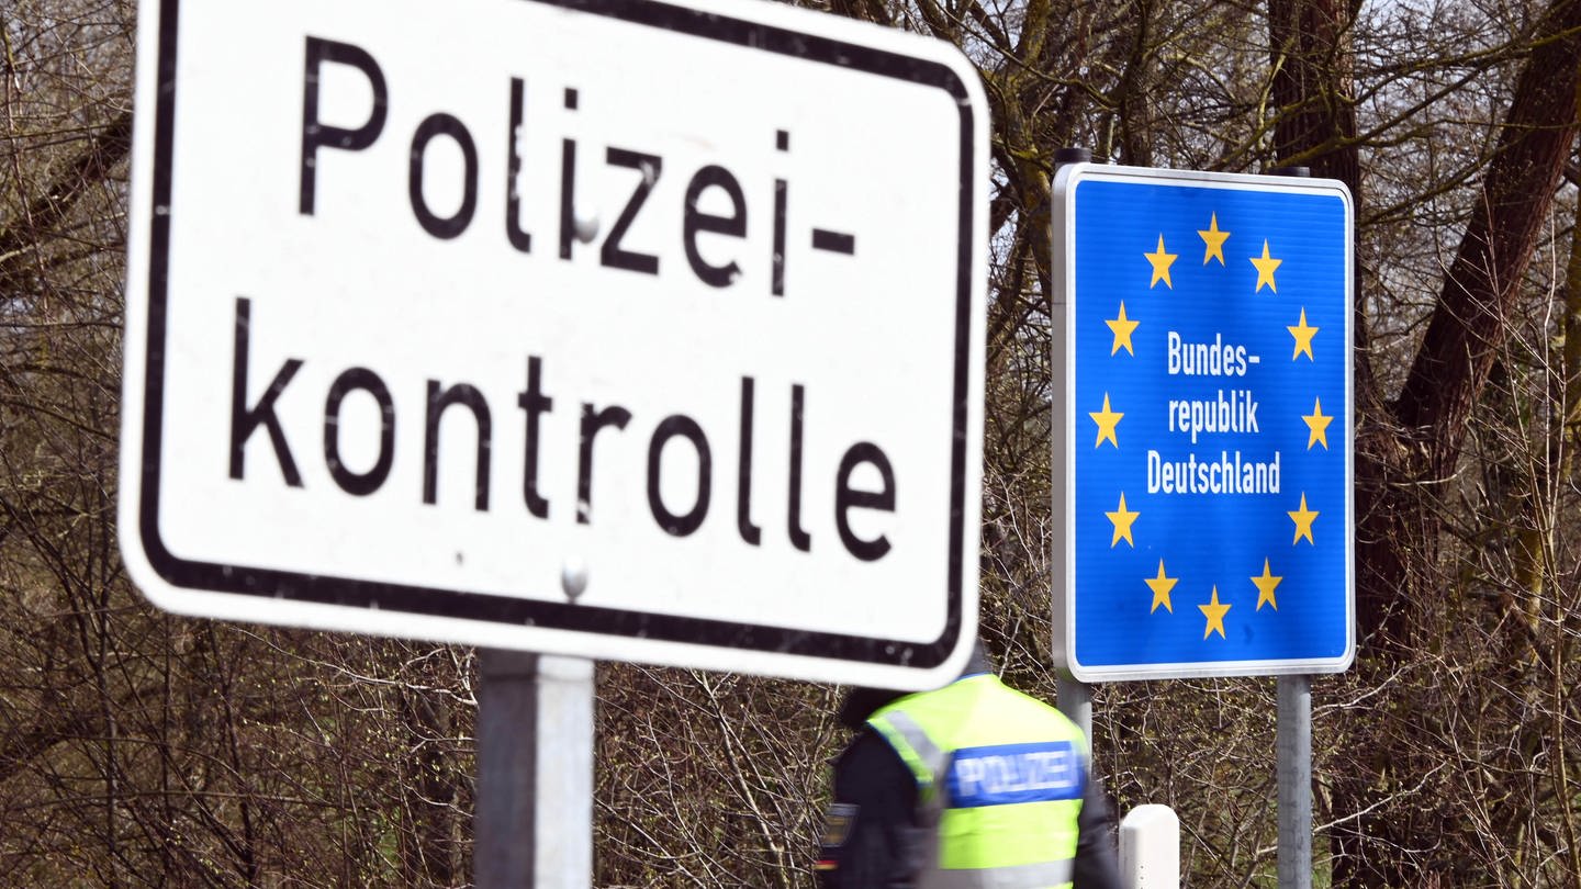
<path id="1" fill-rule="evenodd" d="M 822 889 L 912 889 L 922 864 L 917 781 L 871 729 L 835 762 L 835 799 L 817 861 Z"/>

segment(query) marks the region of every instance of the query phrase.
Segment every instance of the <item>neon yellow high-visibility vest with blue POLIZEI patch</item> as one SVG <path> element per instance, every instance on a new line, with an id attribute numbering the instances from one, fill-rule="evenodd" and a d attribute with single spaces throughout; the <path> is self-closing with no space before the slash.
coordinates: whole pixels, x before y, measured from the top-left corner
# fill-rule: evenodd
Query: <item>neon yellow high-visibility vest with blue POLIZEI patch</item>
<path id="1" fill-rule="evenodd" d="M 922 889 L 1069 886 L 1086 777 L 1080 729 L 991 675 L 901 698 L 868 724 L 917 781 Z"/>

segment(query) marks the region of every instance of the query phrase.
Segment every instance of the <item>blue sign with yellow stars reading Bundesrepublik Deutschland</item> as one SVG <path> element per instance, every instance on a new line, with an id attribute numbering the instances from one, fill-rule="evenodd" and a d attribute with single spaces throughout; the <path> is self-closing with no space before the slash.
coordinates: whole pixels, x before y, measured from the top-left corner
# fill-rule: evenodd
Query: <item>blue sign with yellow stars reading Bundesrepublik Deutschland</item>
<path id="1" fill-rule="evenodd" d="M 1085 682 L 1344 671 L 1350 193 L 1072 165 L 1053 204 L 1056 661 Z"/>

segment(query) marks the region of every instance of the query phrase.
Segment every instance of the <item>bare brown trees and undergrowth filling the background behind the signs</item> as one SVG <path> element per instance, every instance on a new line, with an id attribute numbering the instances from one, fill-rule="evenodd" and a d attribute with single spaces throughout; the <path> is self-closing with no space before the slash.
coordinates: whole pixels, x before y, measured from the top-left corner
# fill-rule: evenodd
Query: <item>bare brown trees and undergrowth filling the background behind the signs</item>
<path id="1" fill-rule="evenodd" d="M 819 6 L 819 3 L 808 3 Z M 1356 668 L 1317 685 L 1334 886 L 1573 886 L 1581 0 L 832 0 L 993 115 L 983 634 L 1047 664 L 1055 149 L 1358 201 Z M 460 886 L 474 664 L 153 612 L 114 541 L 133 8 L 0 14 L 0 883 Z M 900 150 L 904 150 L 901 147 Z M 607 666 L 596 880 L 809 886 L 840 690 Z M 1270 884 L 1273 683 L 1096 691 L 1192 884 Z"/>

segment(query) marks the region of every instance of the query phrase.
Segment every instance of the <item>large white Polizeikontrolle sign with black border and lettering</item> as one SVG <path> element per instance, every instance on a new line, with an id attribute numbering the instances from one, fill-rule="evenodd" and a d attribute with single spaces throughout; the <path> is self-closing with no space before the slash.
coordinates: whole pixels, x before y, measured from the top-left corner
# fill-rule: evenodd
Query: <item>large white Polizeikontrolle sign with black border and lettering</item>
<path id="1" fill-rule="evenodd" d="M 922 687 L 975 633 L 987 104 L 735 2 L 150 2 L 122 549 L 171 611 Z"/>

